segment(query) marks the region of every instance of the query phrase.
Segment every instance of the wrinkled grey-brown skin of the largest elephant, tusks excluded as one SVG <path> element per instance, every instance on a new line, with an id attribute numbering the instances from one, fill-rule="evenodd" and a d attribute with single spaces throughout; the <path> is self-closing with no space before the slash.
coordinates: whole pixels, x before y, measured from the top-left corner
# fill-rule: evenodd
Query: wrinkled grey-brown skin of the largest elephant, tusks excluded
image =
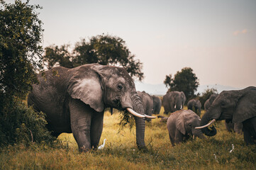
<path id="1" fill-rule="evenodd" d="M 47 115 L 52 135 L 72 132 L 80 152 L 99 145 L 105 108 L 132 108 L 144 115 L 133 79 L 120 67 L 55 67 L 38 74 L 38 81 L 28 95 L 28 105 Z M 145 148 L 145 118 L 135 117 L 135 125 L 138 148 Z"/>

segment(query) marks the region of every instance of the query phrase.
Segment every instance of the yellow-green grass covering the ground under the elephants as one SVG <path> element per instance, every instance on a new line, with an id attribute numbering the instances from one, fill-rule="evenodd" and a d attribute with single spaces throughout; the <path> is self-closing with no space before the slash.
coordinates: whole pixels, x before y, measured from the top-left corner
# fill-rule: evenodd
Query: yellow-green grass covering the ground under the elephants
<path id="1" fill-rule="evenodd" d="M 204 114 L 204 111 L 203 111 Z M 161 110 L 160 115 L 163 115 Z M 172 147 L 166 123 L 146 123 L 148 151 L 135 145 L 135 128 L 119 130 L 119 115 L 104 115 L 100 145 L 105 148 L 80 154 L 72 134 L 58 137 L 62 147 L 9 146 L 0 149 L 0 169 L 256 169 L 256 147 L 245 146 L 242 135 L 227 132 L 223 122 L 207 140 L 189 140 Z M 235 149 L 230 153 L 232 144 Z"/>

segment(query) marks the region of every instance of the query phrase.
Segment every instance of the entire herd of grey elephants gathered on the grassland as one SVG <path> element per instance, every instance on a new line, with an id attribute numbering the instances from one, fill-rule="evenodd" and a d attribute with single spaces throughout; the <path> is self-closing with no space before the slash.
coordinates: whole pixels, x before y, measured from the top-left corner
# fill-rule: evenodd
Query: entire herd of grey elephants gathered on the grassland
<path id="1" fill-rule="evenodd" d="M 168 92 L 162 101 L 145 91 L 136 91 L 126 69 L 101 64 L 49 69 L 38 74 L 38 84 L 33 84 L 28 94 L 28 106 L 45 113 L 52 135 L 57 137 L 62 132 L 72 132 L 79 152 L 98 147 L 105 108 L 126 111 L 135 118 L 138 149 L 146 149 L 145 120 L 156 118 L 152 114 L 159 114 L 161 106 L 165 114 L 171 112 L 169 118 L 164 119 L 172 145 L 186 140 L 189 135 L 201 139 L 204 135 L 216 135 L 214 127 L 207 128 L 216 120 L 226 120 L 227 127 L 234 127 L 235 132 L 243 131 L 247 145 L 255 144 L 256 87 L 223 91 L 215 99 L 209 98 L 201 119 L 201 103 L 189 101 L 190 110 L 183 110 L 186 100 L 184 93 L 179 91 Z"/>

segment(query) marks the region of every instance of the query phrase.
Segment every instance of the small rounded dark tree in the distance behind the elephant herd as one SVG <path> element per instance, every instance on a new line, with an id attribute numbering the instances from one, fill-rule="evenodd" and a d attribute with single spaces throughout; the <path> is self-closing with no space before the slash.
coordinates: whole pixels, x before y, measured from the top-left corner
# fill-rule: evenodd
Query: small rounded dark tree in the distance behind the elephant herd
<path id="1" fill-rule="evenodd" d="M 199 81 L 193 69 L 184 67 L 181 72 L 178 71 L 174 75 L 174 79 L 172 79 L 172 74 L 167 75 L 164 84 L 169 87 L 168 91 L 183 91 L 189 100 L 195 96 Z"/>

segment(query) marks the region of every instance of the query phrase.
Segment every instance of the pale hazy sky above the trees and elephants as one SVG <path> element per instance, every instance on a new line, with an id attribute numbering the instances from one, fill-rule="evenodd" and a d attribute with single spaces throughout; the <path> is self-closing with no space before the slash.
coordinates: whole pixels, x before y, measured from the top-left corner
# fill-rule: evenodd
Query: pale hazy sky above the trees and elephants
<path id="1" fill-rule="evenodd" d="M 256 1 L 32 0 L 43 47 L 102 33 L 126 41 L 147 84 L 191 67 L 201 85 L 256 86 Z"/>

